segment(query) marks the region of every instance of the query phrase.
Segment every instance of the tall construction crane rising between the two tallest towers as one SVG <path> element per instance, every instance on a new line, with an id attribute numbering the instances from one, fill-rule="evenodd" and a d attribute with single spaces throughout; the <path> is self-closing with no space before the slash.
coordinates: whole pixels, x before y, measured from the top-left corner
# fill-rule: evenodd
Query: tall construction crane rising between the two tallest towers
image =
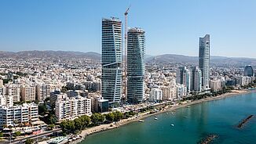
<path id="1" fill-rule="evenodd" d="M 126 13 L 124 13 L 125 16 L 125 29 L 124 29 L 124 77 L 125 77 L 125 87 L 124 87 L 124 95 L 125 95 L 125 99 L 127 98 L 127 31 L 128 31 L 128 27 L 127 27 L 127 23 L 128 23 L 128 12 L 129 12 L 130 6 L 128 7 L 128 9 L 126 9 Z"/>

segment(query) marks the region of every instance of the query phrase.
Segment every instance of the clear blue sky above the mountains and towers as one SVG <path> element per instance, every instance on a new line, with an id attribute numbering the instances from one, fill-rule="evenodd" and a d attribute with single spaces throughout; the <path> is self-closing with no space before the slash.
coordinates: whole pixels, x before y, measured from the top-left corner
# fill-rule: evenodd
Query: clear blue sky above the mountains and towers
<path id="1" fill-rule="evenodd" d="M 123 21 L 146 34 L 147 55 L 256 58 L 255 0 L 0 0 L 0 51 L 101 52 L 101 20 Z"/>

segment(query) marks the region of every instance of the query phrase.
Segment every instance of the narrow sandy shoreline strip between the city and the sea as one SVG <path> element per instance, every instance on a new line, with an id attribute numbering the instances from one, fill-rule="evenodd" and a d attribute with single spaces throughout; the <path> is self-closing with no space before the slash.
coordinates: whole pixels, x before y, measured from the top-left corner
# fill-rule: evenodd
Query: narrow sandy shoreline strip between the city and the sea
<path id="1" fill-rule="evenodd" d="M 108 130 L 112 130 L 114 128 L 119 128 L 121 126 L 125 126 L 126 124 L 130 124 L 132 122 L 139 121 L 139 120 L 142 120 L 146 117 L 157 115 L 159 113 L 165 113 L 165 112 L 177 110 L 177 109 L 180 109 L 180 108 L 183 108 L 183 107 L 186 107 L 186 106 L 192 106 L 192 105 L 195 105 L 195 104 L 198 104 L 198 103 L 204 103 L 204 102 L 209 102 L 209 101 L 213 101 L 213 100 L 225 99 L 225 98 L 229 98 L 229 97 L 232 97 L 232 96 L 244 95 L 244 94 L 248 94 L 248 93 L 252 93 L 252 92 L 256 92 L 256 90 L 255 89 L 254 90 L 233 90 L 232 92 L 225 93 L 225 94 L 222 94 L 222 95 L 218 95 L 218 96 L 215 96 L 215 97 L 199 99 L 199 100 L 195 100 L 195 101 L 192 101 L 192 102 L 183 103 L 183 104 L 177 105 L 177 106 L 167 106 L 164 110 L 160 110 L 156 113 L 150 113 L 150 112 L 140 113 L 140 114 L 138 114 L 138 116 L 133 116 L 133 117 L 130 117 L 128 119 L 123 119 L 121 121 L 115 122 L 115 124 L 113 124 L 113 123 L 111 123 L 111 124 L 101 124 L 99 126 L 83 130 L 79 134 L 81 136 L 81 139 L 77 139 L 77 140 L 75 140 L 73 142 L 69 142 L 69 143 L 77 144 L 79 142 L 82 142 L 82 141 L 86 140 L 86 136 L 88 136 L 88 135 L 93 135 L 93 134 L 101 132 L 101 131 L 108 131 Z"/>

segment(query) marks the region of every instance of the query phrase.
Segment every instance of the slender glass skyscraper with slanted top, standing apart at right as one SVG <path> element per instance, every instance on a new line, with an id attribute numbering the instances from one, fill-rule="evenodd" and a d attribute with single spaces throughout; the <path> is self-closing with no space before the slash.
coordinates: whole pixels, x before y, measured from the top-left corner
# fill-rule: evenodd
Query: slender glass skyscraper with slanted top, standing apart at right
<path id="1" fill-rule="evenodd" d="M 202 71 L 202 88 L 209 89 L 210 81 L 210 34 L 199 38 L 199 69 Z"/>

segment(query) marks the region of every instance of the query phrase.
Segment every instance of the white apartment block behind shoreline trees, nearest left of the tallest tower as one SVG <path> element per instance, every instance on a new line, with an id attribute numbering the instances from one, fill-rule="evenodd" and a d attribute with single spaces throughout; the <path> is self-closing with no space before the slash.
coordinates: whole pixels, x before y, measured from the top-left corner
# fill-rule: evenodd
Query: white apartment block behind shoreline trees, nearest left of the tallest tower
<path id="1" fill-rule="evenodd" d="M 91 99 L 82 96 L 58 99 L 55 103 L 55 115 L 58 121 L 73 120 L 82 115 L 91 114 Z"/>

